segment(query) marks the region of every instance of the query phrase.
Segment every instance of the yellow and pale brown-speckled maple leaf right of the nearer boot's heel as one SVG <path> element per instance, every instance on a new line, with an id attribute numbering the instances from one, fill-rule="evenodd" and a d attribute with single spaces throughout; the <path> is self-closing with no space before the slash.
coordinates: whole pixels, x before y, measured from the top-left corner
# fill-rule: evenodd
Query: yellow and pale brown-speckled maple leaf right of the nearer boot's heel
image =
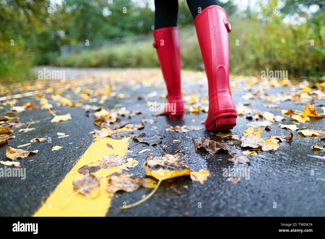
<path id="1" fill-rule="evenodd" d="M 256 127 L 249 127 L 245 130 L 243 135 L 240 138 L 241 147 L 251 147 L 259 148 L 261 147 L 263 151 L 277 150 L 280 148 L 277 139 L 274 138 L 265 138 L 262 139 L 263 129 Z"/>

